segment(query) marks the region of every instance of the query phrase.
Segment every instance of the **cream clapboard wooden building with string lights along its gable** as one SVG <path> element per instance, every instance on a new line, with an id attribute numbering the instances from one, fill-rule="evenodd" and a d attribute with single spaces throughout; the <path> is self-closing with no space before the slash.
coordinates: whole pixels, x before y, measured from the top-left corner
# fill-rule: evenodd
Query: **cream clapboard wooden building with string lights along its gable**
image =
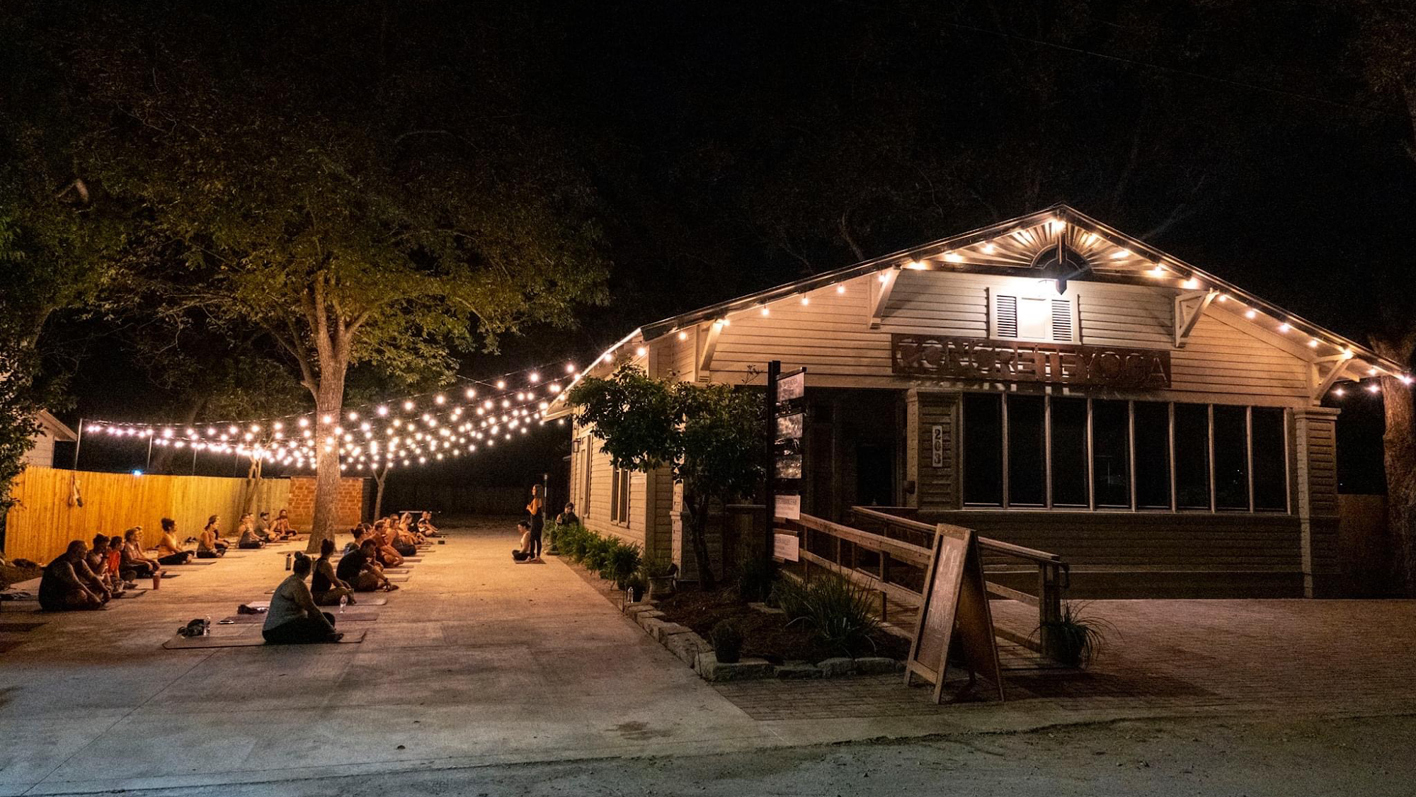
<path id="1" fill-rule="evenodd" d="M 1321 399 L 1410 378 L 1066 205 L 644 326 L 585 372 L 762 385 L 772 360 L 807 369 L 804 512 L 909 508 L 1136 596 L 1331 590 Z M 571 428 L 585 522 L 691 558 L 667 471 Z"/>

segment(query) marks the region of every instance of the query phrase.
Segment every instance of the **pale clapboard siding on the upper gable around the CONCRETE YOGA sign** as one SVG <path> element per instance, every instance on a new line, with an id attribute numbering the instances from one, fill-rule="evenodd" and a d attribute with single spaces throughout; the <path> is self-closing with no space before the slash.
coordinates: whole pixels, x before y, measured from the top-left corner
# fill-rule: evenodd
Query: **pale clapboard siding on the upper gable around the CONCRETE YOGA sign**
<path id="1" fill-rule="evenodd" d="M 869 328 L 869 277 L 770 306 L 770 314 L 732 316 L 718 338 L 709 371 L 714 381 L 742 382 L 770 360 L 783 368 L 807 367 L 813 381 L 833 377 L 857 384 L 902 386 L 891 372 L 891 333 L 930 333 L 987 337 L 987 296 L 1028 294 L 1039 290 L 1031 277 L 901 272 L 879 328 Z M 1068 299 L 1078 303 L 1080 343 L 1171 351 L 1172 389 L 1215 395 L 1218 401 L 1263 396 L 1301 401 L 1308 389 L 1308 364 L 1284 340 L 1270 340 L 1239 316 L 1211 309 L 1201 317 L 1185 348 L 1174 348 L 1174 290 L 1158 286 L 1073 280 Z M 691 345 L 694 344 L 694 345 Z M 677 358 L 691 358 L 697 341 L 678 343 Z M 1219 398 L 1229 396 L 1228 399 Z"/>

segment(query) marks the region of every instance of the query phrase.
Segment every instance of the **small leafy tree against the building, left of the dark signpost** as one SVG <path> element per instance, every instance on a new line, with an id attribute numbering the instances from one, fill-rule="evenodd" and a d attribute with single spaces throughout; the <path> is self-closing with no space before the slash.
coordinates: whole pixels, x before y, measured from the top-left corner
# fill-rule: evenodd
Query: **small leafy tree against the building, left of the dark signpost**
<path id="1" fill-rule="evenodd" d="M 714 501 L 749 494 L 763 476 L 762 396 L 729 385 L 654 379 L 626 364 L 606 379 L 582 379 L 566 401 L 615 467 L 673 469 L 684 486 L 700 585 L 714 589 L 708 511 Z"/>

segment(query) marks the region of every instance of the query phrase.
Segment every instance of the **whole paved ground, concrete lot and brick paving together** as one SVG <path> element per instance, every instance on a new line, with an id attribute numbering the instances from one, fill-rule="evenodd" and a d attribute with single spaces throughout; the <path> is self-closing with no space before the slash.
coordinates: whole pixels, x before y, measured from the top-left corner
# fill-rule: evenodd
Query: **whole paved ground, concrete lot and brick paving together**
<path id="1" fill-rule="evenodd" d="M 193 617 L 265 600 L 293 545 L 174 568 L 178 579 L 106 612 L 6 604 L 0 796 L 733 753 L 1140 716 L 1416 711 L 1413 602 L 1096 603 L 1092 612 L 1120 631 L 1102 664 L 1061 678 L 1008 674 L 1012 699 L 1001 705 L 935 706 L 926 689 L 905 689 L 893 675 L 712 688 L 565 562 L 514 565 L 511 528 L 450 529 L 378 621 L 347 624 L 368 631 L 360 644 L 161 648 Z"/>

